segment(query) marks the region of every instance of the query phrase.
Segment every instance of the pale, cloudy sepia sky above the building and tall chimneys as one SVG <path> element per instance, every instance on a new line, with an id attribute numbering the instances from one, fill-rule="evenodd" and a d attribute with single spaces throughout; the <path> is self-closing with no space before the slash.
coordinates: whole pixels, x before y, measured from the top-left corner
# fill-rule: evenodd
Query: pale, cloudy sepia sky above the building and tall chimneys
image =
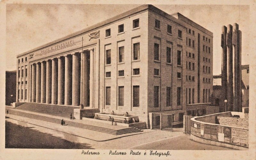
<path id="1" fill-rule="evenodd" d="M 141 4 L 7 4 L 6 70 L 16 70 L 17 54 L 80 31 Z M 249 5 L 155 5 L 182 15 L 213 32 L 213 74 L 221 73 L 221 27 L 242 31 L 242 65 L 249 64 Z"/>

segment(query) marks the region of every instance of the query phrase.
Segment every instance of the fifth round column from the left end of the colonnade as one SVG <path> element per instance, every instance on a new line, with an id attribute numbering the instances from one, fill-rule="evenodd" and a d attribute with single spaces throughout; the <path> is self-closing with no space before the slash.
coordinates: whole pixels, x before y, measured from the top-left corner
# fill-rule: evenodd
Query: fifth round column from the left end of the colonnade
<path id="1" fill-rule="evenodd" d="M 52 104 L 58 102 L 58 59 L 52 59 Z"/>

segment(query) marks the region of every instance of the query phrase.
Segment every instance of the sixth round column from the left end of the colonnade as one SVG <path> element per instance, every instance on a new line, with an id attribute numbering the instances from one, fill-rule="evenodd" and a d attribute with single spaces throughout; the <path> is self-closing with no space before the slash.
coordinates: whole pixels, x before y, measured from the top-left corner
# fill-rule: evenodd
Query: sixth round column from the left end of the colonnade
<path id="1" fill-rule="evenodd" d="M 64 104 L 64 57 L 58 58 L 58 104 Z"/>

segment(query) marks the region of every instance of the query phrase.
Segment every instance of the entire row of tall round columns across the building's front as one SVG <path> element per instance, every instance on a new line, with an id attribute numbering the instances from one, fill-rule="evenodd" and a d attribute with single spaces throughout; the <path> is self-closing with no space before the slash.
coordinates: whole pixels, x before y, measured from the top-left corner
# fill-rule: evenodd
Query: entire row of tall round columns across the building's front
<path id="1" fill-rule="evenodd" d="M 33 63 L 31 102 L 93 107 L 93 62 L 92 49 Z"/>

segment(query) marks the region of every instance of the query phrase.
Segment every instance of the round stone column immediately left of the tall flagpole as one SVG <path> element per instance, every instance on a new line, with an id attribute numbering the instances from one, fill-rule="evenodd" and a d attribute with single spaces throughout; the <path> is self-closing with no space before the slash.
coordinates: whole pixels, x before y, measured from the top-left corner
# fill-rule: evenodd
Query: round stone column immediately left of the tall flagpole
<path id="1" fill-rule="evenodd" d="M 80 105 L 80 80 L 81 80 L 80 53 L 72 55 L 72 106 Z"/>

